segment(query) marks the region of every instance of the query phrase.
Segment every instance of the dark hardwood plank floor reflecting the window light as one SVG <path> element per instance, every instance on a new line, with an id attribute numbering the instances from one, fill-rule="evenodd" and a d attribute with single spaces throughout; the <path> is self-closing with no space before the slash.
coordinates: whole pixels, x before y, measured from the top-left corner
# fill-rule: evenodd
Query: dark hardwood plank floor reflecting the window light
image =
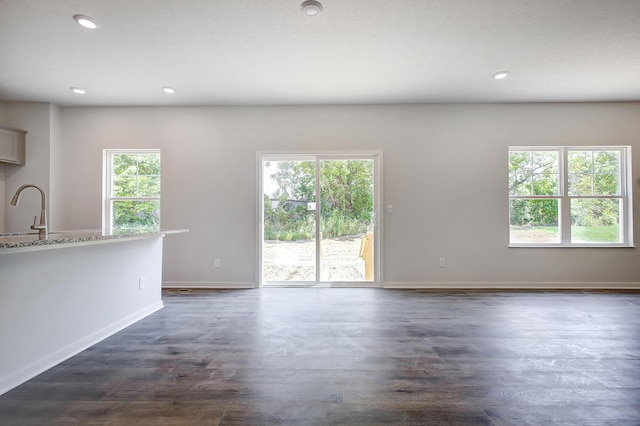
<path id="1" fill-rule="evenodd" d="M 270 288 L 164 302 L 0 396 L 0 424 L 640 425 L 640 293 Z"/>

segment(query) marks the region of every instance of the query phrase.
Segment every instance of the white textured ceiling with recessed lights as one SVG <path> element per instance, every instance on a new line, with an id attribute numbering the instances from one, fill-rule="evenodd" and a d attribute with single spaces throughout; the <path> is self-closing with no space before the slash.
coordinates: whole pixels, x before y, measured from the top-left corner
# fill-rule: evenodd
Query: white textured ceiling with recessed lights
<path id="1" fill-rule="evenodd" d="M 640 0 L 323 0 L 316 17 L 301 1 L 0 0 L 0 99 L 640 100 Z M 78 13 L 98 29 L 77 25 Z M 502 69 L 511 75 L 493 80 Z"/>

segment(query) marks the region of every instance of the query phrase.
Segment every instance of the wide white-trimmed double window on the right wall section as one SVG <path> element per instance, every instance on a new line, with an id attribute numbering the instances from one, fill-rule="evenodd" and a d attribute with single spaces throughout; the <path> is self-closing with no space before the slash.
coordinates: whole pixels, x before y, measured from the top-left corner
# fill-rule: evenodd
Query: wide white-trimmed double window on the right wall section
<path id="1" fill-rule="evenodd" d="M 630 151 L 509 147 L 509 245 L 633 245 Z"/>

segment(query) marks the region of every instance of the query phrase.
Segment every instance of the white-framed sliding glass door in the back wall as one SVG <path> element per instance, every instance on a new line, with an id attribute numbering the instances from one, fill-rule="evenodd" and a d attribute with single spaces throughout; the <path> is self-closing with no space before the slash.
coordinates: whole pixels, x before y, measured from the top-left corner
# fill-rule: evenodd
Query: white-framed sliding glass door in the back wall
<path id="1" fill-rule="evenodd" d="M 261 285 L 375 285 L 378 161 L 260 157 Z"/>

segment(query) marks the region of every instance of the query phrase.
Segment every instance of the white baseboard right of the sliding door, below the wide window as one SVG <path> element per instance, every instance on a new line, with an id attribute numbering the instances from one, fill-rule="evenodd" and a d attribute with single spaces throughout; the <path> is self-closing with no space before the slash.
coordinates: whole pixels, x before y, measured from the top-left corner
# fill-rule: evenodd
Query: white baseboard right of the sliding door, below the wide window
<path id="1" fill-rule="evenodd" d="M 382 287 L 434 290 L 640 290 L 640 282 L 385 282 Z"/>

